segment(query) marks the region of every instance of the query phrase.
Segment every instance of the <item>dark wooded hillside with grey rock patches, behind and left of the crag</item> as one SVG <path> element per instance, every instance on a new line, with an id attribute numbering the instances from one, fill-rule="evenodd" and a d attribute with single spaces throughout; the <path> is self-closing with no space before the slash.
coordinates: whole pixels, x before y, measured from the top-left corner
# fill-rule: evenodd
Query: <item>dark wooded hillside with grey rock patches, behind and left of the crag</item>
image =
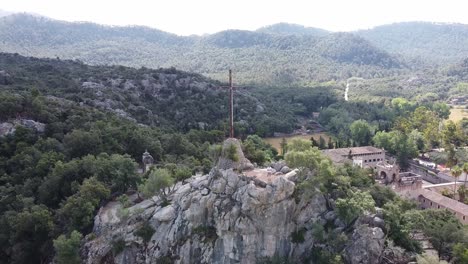
<path id="1" fill-rule="evenodd" d="M 103 201 L 141 182 L 145 150 L 177 180 L 209 171 L 210 145 L 227 132 L 222 84 L 0 53 L 0 263 L 48 262 L 59 234 L 89 233 Z M 289 132 L 296 115 L 336 102 L 337 87 L 236 89 L 236 136 Z"/>

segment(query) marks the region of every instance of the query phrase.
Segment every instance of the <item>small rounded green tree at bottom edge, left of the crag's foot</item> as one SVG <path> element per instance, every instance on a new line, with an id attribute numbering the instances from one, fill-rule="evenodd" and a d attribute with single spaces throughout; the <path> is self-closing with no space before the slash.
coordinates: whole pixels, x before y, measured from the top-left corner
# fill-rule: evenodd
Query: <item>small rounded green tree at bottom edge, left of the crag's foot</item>
<path id="1" fill-rule="evenodd" d="M 55 261 L 58 264 L 80 264 L 80 243 L 83 235 L 73 230 L 69 237 L 60 235 L 54 240 Z"/>

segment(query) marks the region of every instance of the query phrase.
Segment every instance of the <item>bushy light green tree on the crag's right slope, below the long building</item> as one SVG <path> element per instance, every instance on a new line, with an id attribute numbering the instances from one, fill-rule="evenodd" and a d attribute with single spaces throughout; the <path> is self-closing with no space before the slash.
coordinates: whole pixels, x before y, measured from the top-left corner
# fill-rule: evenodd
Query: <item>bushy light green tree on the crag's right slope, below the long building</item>
<path id="1" fill-rule="evenodd" d="M 336 210 L 341 220 L 349 225 L 364 212 L 373 212 L 375 202 L 369 192 L 358 190 L 346 198 L 337 199 Z"/>

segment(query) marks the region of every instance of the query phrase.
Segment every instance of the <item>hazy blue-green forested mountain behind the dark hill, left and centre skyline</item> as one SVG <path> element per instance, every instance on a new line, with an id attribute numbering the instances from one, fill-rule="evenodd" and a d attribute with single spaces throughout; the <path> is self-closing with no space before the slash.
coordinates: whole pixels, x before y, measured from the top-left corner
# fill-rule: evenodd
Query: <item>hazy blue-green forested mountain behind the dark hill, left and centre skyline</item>
<path id="1" fill-rule="evenodd" d="M 277 28 L 270 29 L 286 31 Z M 275 86 L 393 76 L 405 68 L 397 58 L 356 35 L 263 31 L 181 37 L 145 27 L 68 23 L 16 14 L 0 19 L 0 50 L 100 65 L 176 67 L 218 80 L 232 68 L 238 82 Z"/>

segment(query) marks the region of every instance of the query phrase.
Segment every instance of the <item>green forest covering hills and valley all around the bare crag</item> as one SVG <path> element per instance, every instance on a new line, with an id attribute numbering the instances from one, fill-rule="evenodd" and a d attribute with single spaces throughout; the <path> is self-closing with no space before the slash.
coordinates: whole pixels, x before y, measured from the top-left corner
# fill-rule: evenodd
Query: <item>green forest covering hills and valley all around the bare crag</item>
<path id="1" fill-rule="evenodd" d="M 421 253 L 412 236 L 424 233 L 439 257 L 468 259 L 468 236 L 452 215 L 416 210 L 375 185 L 371 172 L 335 167 L 319 151 L 374 145 L 405 169 L 409 159 L 445 148 L 435 157 L 440 163 L 466 164 L 468 119 L 448 121 L 447 102 L 468 94 L 467 26 L 332 33 L 281 23 L 182 37 L 1 16 L 0 263 L 45 263 L 54 255 L 57 263 L 79 263 L 80 241 L 93 239 L 94 216 L 108 201 L 128 204 L 127 192 L 155 194 L 151 181 L 164 190 L 208 173 L 228 135 L 229 68 L 245 156 L 260 166 L 285 159 L 300 168 L 295 195 L 333 199 L 348 228 L 314 226 L 327 245 L 311 252 L 315 262 L 342 263 L 346 232 L 376 206 L 390 248 Z M 262 140 L 304 120 L 306 129 L 320 123 L 329 141 L 284 141 L 277 153 Z M 145 151 L 157 170 L 139 173 Z M 301 232 L 292 234 L 294 243 Z"/>

